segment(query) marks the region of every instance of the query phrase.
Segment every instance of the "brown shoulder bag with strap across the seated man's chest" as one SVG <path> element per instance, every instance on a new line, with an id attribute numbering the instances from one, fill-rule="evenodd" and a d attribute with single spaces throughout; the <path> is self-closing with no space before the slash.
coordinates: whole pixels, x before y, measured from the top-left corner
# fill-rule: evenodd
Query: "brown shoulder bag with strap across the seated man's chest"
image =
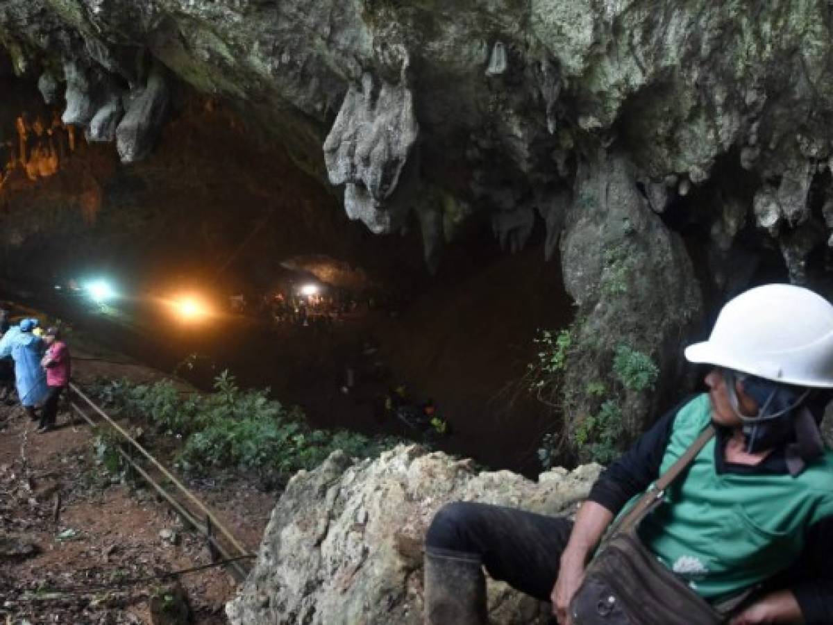
<path id="1" fill-rule="evenodd" d="M 718 612 L 656 559 L 636 534 L 665 489 L 714 436 L 706 428 L 615 527 L 587 566 L 570 603 L 573 625 L 719 625 Z M 732 602 L 734 607 L 739 603 Z M 731 609 L 731 608 L 729 608 Z"/>

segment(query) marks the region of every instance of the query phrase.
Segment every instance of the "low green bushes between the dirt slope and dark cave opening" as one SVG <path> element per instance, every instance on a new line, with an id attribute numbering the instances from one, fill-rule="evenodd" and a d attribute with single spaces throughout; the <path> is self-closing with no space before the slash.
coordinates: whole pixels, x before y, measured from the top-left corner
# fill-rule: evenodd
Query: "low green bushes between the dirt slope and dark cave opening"
<path id="1" fill-rule="evenodd" d="M 181 393 L 167 380 L 150 385 L 117 380 L 99 384 L 93 393 L 117 414 L 146 418 L 157 434 L 182 439 L 177 465 L 191 473 L 240 468 L 288 478 L 336 449 L 364 458 L 398 442 L 309 428 L 300 408 L 268 398 L 268 389 L 241 390 L 227 371 L 215 378 L 214 393 Z M 117 458 L 101 443 L 100 458 L 109 468 Z"/>

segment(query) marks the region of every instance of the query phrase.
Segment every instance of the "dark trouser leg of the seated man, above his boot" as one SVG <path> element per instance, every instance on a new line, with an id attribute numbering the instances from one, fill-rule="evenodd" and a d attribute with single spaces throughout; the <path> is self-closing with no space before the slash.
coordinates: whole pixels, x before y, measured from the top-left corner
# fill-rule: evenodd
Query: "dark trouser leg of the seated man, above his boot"
<path id="1" fill-rule="evenodd" d="M 572 522 L 485 503 L 449 503 L 426 533 L 426 555 L 457 552 L 478 557 L 489 575 L 549 601 Z"/>

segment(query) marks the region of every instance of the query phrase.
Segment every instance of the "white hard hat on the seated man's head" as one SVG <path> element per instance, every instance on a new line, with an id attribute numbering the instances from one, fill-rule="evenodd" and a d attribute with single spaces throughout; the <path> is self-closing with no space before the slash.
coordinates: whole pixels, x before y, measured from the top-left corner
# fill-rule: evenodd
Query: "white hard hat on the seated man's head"
<path id="1" fill-rule="evenodd" d="M 709 340 L 686 348 L 686 358 L 780 383 L 833 388 L 833 306 L 790 284 L 752 288 L 726 303 Z"/>

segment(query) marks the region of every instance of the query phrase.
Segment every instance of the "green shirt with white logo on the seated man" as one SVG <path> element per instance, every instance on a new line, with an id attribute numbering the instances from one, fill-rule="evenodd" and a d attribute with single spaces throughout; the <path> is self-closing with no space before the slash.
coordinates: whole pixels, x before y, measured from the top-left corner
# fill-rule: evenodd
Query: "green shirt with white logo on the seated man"
<path id="1" fill-rule="evenodd" d="M 706 394 L 677 413 L 660 473 L 710 421 Z M 833 514 L 830 451 L 796 477 L 718 474 L 715 445 L 712 438 L 639 530 L 656 557 L 709 600 L 736 595 L 789 567 L 804 547 L 808 528 Z"/>

